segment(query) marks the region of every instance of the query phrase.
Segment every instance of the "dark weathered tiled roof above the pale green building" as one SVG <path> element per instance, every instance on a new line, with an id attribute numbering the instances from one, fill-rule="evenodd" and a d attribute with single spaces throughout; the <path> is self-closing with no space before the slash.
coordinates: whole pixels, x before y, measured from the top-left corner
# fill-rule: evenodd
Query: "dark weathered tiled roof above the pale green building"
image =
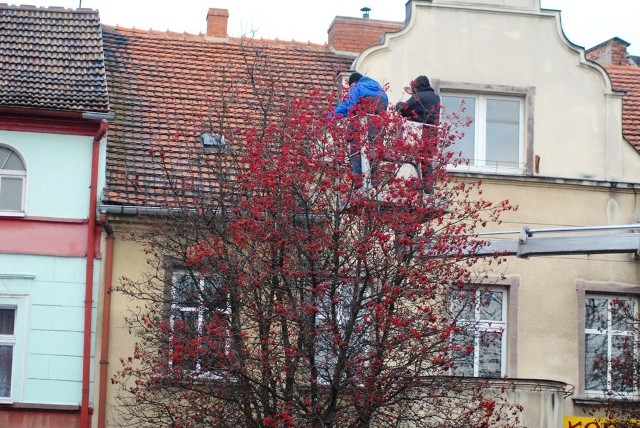
<path id="1" fill-rule="evenodd" d="M 98 12 L 0 4 L 0 106 L 107 112 Z"/>

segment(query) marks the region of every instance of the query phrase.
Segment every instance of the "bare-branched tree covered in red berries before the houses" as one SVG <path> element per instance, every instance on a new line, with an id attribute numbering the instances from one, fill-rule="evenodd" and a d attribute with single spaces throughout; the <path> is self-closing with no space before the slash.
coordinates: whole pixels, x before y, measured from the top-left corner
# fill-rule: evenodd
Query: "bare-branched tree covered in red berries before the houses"
<path id="1" fill-rule="evenodd" d="M 137 304 L 138 341 L 113 378 L 121 423 L 517 425 L 491 379 L 455 376 L 472 352 L 460 316 L 477 304 L 482 242 L 470 236 L 513 209 L 447 172 L 455 125 L 423 129 L 366 103 L 328 118 L 334 94 L 294 97 L 252 76 L 263 120 L 233 128 L 212 108 L 179 133 L 217 144 L 149 149 L 162 178 L 146 190 L 162 209 L 128 236 L 149 256 L 146 277 L 118 287 Z"/>

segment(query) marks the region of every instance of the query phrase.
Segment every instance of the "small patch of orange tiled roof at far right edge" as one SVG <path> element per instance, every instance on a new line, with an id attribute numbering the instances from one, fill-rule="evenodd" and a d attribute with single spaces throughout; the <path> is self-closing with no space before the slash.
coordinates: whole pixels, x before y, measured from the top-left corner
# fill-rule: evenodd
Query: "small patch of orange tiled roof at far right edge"
<path id="1" fill-rule="evenodd" d="M 622 100 L 622 133 L 640 151 L 640 67 L 606 65 L 613 88 L 626 91 Z"/>

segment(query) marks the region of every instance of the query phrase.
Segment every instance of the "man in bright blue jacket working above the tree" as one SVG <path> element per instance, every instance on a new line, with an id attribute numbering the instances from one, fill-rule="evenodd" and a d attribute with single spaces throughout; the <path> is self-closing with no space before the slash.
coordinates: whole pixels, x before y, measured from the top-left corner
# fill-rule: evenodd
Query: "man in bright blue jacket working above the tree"
<path id="1" fill-rule="evenodd" d="M 358 107 L 363 108 L 363 113 L 379 114 L 387 109 L 389 99 L 384 89 L 378 82 L 360 73 L 352 73 L 349 76 L 349 90 L 340 104 L 336 106 L 329 117 L 347 117 L 354 113 Z M 378 134 L 372 120 L 368 121 L 368 137 L 372 141 Z M 351 128 L 351 131 L 353 129 Z M 362 176 L 362 159 L 360 157 L 360 145 L 355 140 L 349 140 L 349 157 L 354 174 Z"/>

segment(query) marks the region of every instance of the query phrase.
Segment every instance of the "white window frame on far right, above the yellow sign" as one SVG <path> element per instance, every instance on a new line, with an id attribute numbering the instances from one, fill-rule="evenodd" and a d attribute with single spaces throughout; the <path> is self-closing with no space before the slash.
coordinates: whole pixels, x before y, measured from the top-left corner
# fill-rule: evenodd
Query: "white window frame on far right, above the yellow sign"
<path id="1" fill-rule="evenodd" d="M 634 332 L 633 329 L 631 330 L 615 330 L 612 326 L 612 314 L 613 311 L 611 310 L 612 305 L 613 305 L 613 301 L 615 300 L 625 300 L 625 301 L 629 301 L 632 305 L 633 305 L 633 309 L 632 309 L 632 313 L 636 313 L 637 308 L 638 308 L 638 299 L 635 297 L 630 297 L 630 296 L 619 296 L 619 295 L 607 295 L 607 294 L 596 294 L 596 293 L 587 293 L 585 295 L 585 300 L 584 303 L 586 305 L 587 300 L 589 299 L 598 299 L 598 300 L 605 300 L 607 302 L 607 320 L 606 320 L 606 328 L 601 329 L 601 328 L 588 328 L 585 325 L 584 328 L 584 336 L 585 336 L 585 357 L 586 357 L 586 335 L 587 334 L 591 334 L 591 335 L 599 335 L 599 336 L 606 336 L 606 340 L 607 340 L 607 351 L 606 351 L 606 358 L 607 358 L 607 380 L 606 380 L 606 389 L 603 390 L 598 390 L 598 389 L 587 389 L 586 385 L 587 385 L 587 373 L 586 373 L 586 359 L 585 359 L 585 371 L 584 371 L 584 377 L 585 377 L 585 393 L 588 395 L 602 395 L 604 394 L 606 391 L 611 391 L 611 387 L 612 387 L 612 367 L 611 367 L 611 356 L 612 356 L 612 352 L 613 352 L 613 339 L 614 337 L 631 337 L 635 343 L 638 342 L 638 337 L 636 332 Z M 586 306 L 585 306 L 585 316 L 586 316 Z M 586 318 L 585 318 L 585 323 L 586 323 Z M 634 351 L 634 358 L 637 359 L 638 358 L 638 352 L 637 349 L 635 349 Z M 627 395 L 627 396 L 634 396 L 637 395 L 638 391 L 636 389 L 636 382 L 633 381 L 632 382 L 632 386 L 633 386 L 633 391 L 631 392 L 621 392 L 621 391 L 615 391 L 616 394 L 620 394 L 620 395 Z"/>

